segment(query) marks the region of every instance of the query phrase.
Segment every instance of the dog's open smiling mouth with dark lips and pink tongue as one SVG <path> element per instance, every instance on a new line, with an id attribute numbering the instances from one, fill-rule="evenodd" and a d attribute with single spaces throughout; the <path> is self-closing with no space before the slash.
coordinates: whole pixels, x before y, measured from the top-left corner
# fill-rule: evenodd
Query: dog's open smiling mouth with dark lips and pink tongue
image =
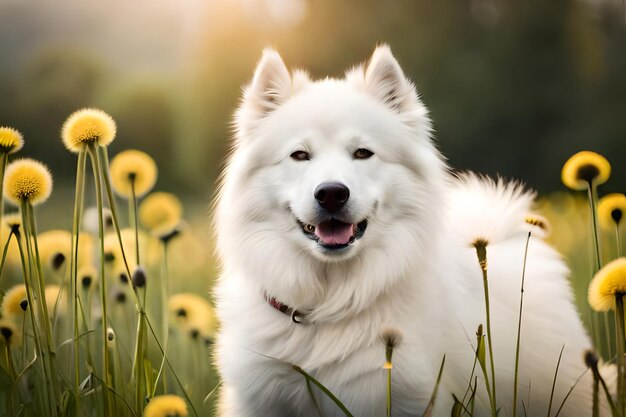
<path id="1" fill-rule="evenodd" d="M 345 223 L 337 219 L 326 220 L 314 226 L 298 220 L 302 232 L 325 249 L 337 250 L 348 247 L 363 237 L 367 229 L 367 220 L 359 223 Z"/>

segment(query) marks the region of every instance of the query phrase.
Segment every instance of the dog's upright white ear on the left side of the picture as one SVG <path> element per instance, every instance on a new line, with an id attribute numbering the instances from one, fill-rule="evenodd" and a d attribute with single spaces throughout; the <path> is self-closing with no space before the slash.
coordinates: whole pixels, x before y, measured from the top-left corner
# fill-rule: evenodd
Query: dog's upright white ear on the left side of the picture
<path id="1" fill-rule="evenodd" d="M 244 104 L 261 119 L 276 110 L 292 94 L 291 75 L 278 52 L 265 49 L 246 90 Z"/>

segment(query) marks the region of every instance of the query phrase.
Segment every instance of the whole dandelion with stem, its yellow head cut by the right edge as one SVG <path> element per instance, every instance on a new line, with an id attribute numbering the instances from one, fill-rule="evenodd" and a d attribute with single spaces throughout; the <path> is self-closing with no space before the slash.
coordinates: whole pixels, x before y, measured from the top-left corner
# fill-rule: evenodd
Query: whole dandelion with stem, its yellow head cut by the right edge
<path id="1" fill-rule="evenodd" d="M 624 296 L 626 295 L 626 258 L 618 258 L 600 269 L 589 284 L 588 301 L 596 311 L 615 310 L 617 345 L 617 398 L 620 411 L 626 406 L 626 358 L 624 343 Z"/>

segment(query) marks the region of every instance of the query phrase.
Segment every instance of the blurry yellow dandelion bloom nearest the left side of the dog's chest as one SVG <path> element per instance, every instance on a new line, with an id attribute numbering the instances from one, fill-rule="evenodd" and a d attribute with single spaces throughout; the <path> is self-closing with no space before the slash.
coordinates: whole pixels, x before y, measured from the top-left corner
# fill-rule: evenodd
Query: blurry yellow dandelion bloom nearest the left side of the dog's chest
<path id="1" fill-rule="evenodd" d="M 183 330 L 197 330 L 205 337 L 213 338 L 217 331 L 217 319 L 207 299 L 193 293 L 180 293 L 168 301 L 170 314 Z"/>

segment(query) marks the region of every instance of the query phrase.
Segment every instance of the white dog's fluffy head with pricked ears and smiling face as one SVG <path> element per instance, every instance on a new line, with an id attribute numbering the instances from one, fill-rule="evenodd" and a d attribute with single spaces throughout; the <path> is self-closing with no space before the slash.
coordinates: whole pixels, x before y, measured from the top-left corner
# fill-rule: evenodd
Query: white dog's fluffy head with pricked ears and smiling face
<path id="1" fill-rule="evenodd" d="M 223 256 L 367 264 L 423 244 L 444 164 L 387 46 L 344 79 L 315 82 L 266 50 L 235 128 L 216 221 Z"/>

